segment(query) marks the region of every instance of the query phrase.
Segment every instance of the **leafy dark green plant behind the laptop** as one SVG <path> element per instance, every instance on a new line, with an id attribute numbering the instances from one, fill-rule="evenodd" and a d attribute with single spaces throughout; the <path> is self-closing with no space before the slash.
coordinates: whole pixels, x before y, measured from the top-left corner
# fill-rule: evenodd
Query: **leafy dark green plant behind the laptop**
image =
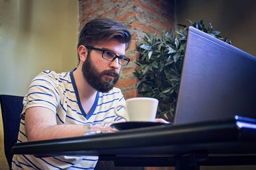
<path id="1" fill-rule="evenodd" d="M 205 28 L 203 20 L 190 24 L 213 37 L 229 44 L 219 31 L 214 31 L 212 24 Z M 142 97 L 154 97 L 159 100 L 158 118 L 172 121 L 180 86 L 180 75 L 186 48 L 188 27 L 178 24 L 175 33 L 162 31 L 160 36 L 147 34 L 143 43 L 137 47 L 140 56 L 134 76 L 138 78 L 137 90 Z"/>

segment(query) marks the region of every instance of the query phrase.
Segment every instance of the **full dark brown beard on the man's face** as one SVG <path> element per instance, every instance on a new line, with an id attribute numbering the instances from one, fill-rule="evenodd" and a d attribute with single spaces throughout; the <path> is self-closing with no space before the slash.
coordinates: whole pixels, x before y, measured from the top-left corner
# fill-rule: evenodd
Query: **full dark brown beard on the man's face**
<path id="1" fill-rule="evenodd" d="M 83 63 L 82 72 L 88 84 L 100 92 L 109 92 L 119 80 L 119 74 L 115 70 L 99 72 L 96 66 L 91 62 L 89 53 L 87 54 L 85 63 Z M 114 78 L 103 78 L 104 75 L 113 75 Z"/>

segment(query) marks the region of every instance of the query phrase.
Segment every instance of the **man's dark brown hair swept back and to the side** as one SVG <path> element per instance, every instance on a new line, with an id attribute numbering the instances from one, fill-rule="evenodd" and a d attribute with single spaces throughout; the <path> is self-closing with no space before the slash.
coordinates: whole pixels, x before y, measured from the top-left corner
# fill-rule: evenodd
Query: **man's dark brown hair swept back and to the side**
<path id="1" fill-rule="evenodd" d="M 121 22 L 109 18 L 96 18 L 87 22 L 81 30 L 77 48 L 81 45 L 95 46 L 110 39 L 117 39 L 120 43 L 126 44 L 127 49 L 130 46 L 131 35 Z"/>

